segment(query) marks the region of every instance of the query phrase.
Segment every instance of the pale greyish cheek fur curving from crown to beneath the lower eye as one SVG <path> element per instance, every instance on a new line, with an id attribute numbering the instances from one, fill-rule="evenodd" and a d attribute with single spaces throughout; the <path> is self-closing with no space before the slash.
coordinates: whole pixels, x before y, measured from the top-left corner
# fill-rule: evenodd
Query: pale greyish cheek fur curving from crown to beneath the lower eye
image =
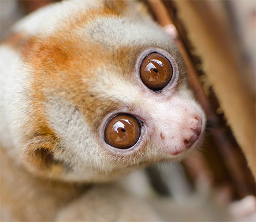
<path id="1" fill-rule="evenodd" d="M 67 174 L 73 179 L 79 175 L 81 179 L 86 177 L 86 180 L 92 180 L 102 174 L 101 180 L 108 180 L 123 174 L 124 167 L 134 165 L 133 160 L 140 160 L 143 156 L 131 150 L 126 155 L 128 157 L 123 153 L 110 152 L 102 133 L 93 132 L 84 114 L 61 98 L 52 99 L 45 109 L 51 128 L 60 137 L 59 149 L 54 157 L 70 166 L 71 171 Z"/>

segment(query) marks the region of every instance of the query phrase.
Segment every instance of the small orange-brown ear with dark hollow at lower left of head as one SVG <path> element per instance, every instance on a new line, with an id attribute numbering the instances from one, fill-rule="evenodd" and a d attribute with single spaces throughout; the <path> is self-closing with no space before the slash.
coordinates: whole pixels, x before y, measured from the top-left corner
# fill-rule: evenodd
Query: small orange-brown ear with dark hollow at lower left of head
<path id="1" fill-rule="evenodd" d="M 57 139 L 50 135 L 35 136 L 27 142 L 22 151 L 25 166 L 37 174 L 62 171 L 62 164 L 54 158 Z"/>

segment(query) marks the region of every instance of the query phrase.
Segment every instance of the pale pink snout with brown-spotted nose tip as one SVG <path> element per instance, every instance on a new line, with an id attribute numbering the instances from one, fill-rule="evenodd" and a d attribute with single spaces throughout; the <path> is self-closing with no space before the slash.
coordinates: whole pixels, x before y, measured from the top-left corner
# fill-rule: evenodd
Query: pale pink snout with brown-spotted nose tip
<path id="1" fill-rule="evenodd" d="M 148 133 L 154 147 L 159 149 L 158 154 L 181 156 L 194 149 L 201 140 L 205 115 L 193 100 L 174 95 L 168 101 L 155 102 L 155 106 L 148 109 L 148 114 L 150 118 L 144 119 L 148 129 L 153 129 Z"/>

